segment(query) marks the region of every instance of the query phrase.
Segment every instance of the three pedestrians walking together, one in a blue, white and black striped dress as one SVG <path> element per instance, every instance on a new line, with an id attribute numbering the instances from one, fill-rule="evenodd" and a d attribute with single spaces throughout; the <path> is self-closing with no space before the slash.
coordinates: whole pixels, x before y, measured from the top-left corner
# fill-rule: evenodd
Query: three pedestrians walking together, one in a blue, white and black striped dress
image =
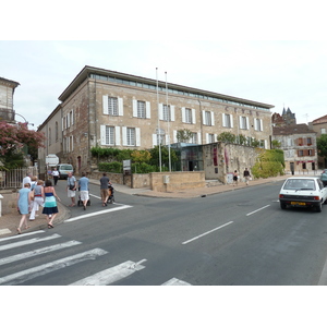
<path id="1" fill-rule="evenodd" d="M 29 228 L 27 215 L 29 214 L 31 221 L 35 220 L 40 206 L 47 217 L 48 228 L 53 228 L 53 220 L 58 214 L 57 199 L 60 201 L 50 180 L 44 182 L 27 173 L 17 193 L 17 210 L 22 215 L 17 232 L 22 233 L 24 225 L 25 229 Z"/>

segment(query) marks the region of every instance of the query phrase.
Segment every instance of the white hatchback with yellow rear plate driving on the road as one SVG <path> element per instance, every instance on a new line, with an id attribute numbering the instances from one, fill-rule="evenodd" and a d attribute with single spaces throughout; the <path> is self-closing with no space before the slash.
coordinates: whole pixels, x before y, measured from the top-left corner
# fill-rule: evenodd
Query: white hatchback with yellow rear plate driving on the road
<path id="1" fill-rule="evenodd" d="M 292 177 L 280 189 L 279 203 L 282 209 L 311 207 L 320 213 L 323 204 L 327 203 L 327 187 L 318 177 Z"/>

